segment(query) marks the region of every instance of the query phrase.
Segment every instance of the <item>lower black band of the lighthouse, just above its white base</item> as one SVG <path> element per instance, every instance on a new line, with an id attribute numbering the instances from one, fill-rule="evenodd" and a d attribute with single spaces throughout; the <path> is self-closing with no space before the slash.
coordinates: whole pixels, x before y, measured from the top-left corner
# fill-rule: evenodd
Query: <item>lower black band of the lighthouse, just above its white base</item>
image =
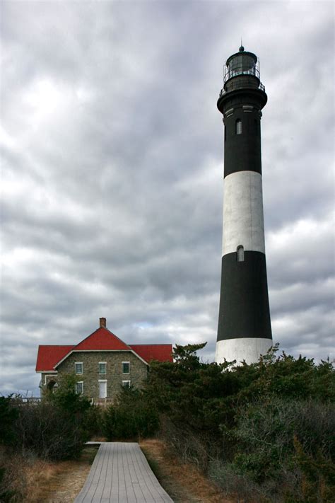
<path id="1" fill-rule="evenodd" d="M 245 251 L 222 258 L 218 340 L 240 337 L 271 339 L 269 296 L 264 253 Z"/>

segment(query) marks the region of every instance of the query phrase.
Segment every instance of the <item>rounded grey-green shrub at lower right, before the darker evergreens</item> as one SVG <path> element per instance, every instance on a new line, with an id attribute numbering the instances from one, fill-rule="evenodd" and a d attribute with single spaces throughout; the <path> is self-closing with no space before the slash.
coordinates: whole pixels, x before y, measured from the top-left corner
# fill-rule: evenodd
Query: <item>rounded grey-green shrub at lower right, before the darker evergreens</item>
<path id="1" fill-rule="evenodd" d="M 238 446 L 237 473 L 256 482 L 281 478 L 292 461 L 293 438 L 312 456 L 334 453 L 335 405 L 312 400 L 259 400 L 238 410 L 235 429 L 226 432 Z"/>

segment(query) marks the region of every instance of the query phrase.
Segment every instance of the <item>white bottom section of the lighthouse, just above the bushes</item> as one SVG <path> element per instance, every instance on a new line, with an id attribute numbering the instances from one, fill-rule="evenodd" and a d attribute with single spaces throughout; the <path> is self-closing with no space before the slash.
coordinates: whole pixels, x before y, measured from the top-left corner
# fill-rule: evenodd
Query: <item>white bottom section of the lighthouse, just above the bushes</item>
<path id="1" fill-rule="evenodd" d="M 238 339 L 225 339 L 216 342 L 216 363 L 236 360 L 236 365 L 257 363 L 261 354 L 266 354 L 272 346 L 272 339 L 261 337 L 240 337 Z"/>

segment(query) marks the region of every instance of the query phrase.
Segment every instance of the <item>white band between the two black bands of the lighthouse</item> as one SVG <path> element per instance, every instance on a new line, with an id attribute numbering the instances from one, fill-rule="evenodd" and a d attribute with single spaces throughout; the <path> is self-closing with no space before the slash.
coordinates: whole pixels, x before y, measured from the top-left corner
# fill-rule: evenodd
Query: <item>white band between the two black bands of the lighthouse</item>
<path id="1" fill-rule="evenodd" d="M 265 253 L 261 175 L 236 171 L 225 177 L 224 185 L 222 255 L 239 245 Z"/>

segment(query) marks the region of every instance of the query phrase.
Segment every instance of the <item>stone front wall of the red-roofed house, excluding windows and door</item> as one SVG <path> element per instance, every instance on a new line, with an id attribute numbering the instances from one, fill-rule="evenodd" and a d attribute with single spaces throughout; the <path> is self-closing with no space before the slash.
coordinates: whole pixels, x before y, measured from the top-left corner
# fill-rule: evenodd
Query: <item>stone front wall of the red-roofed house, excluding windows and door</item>
<path id="1" fill-rule="evenodd" d="M 76 376 L 78 381 L 83 381 L 83 394 L 95 400 L 99 398 L 99 380 L 107 381 L 107 398 L 113 399 L 121 390 L 122 381 L 130 381 L 131 386 L 140 387 L 148 376 L 148 365 L 131 352 L 78 351 L 70 354 L 57 367 L 57 377 L 61 374 L 74 374 L 76 362 L 83 364 L 83 374 Z M 106 362 L 106 374 L 99 374 L 99 362 Z M 129 362 L 129 374 L 123 374 L 122 362 Z"/>

